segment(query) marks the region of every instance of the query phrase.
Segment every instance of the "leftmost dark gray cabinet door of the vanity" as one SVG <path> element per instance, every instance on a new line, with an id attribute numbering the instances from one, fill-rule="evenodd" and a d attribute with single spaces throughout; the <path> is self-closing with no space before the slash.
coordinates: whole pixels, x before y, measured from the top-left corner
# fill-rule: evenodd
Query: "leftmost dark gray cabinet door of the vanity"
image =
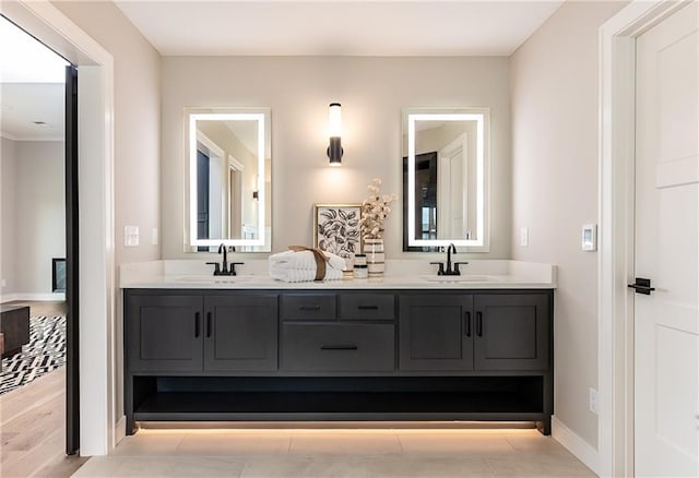
<path id="1" fill-rule="evenodd" d="M 199 371 L 202 298 L 127 296 L 126 348 L 131 371 Z"/>

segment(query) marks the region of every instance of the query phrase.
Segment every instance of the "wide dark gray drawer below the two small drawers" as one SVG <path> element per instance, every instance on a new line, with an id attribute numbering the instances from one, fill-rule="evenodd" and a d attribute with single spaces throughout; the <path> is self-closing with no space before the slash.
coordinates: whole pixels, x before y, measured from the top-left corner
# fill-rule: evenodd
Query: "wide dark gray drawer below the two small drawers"
<path id="1" fill-rule="evenodd" d="M 392 324 L 291 324 L 282 330 L 282 369 L 392 371 Z"/>

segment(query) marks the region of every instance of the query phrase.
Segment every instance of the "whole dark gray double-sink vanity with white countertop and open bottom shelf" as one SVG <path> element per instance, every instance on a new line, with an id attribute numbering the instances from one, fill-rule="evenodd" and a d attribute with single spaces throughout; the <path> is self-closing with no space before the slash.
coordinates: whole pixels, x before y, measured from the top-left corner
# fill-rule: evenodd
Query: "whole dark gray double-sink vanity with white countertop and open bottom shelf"
<path id="1" fill-rule="evenodd" d="M 550 433 L 555 279 L 125 284 L 137 421 L 500 420 Z"/>

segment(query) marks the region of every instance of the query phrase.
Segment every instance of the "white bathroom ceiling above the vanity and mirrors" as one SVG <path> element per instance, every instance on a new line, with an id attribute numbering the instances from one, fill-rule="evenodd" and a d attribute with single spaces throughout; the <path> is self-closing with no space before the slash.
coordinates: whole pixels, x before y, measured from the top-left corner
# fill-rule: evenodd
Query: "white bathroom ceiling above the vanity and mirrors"
<path id="1" fill-rule="evenodd" d="M 510 56 L 565 0 L 115 0 L 163 56 Z"/>

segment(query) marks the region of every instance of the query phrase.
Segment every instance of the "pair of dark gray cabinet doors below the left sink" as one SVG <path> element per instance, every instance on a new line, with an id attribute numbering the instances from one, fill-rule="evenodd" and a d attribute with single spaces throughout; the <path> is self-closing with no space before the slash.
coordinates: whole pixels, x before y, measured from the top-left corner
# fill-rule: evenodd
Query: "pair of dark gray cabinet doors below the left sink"
<path id="1" fill-rule="evenodd" d="M 277 296 L 129 294 L 131 372 L 269 371 L 277 367 Z"/>

